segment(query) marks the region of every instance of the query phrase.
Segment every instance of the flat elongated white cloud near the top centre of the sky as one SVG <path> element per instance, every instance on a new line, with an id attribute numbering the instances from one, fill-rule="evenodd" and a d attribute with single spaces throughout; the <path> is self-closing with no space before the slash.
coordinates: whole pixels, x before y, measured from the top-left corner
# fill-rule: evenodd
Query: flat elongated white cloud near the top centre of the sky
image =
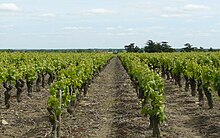
<path id="1" fill-rule="evenodd" d="M 86 12 L 87 15 L 109 15 L 116 14 L 116 11 L 108 10 L 108 9 L 91 9 Z"/>

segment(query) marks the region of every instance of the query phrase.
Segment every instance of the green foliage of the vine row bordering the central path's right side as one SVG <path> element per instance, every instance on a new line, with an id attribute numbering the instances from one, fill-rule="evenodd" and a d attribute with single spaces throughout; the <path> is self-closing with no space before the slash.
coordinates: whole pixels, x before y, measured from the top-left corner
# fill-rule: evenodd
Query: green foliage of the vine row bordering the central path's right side
<path id="1" fill-rule="evenodd" d="M 128 69 L 128 73 L 134 76 L 135 80 L 139 82 L 139 87 L 144 90 L 142 103 L 145 102 L 145 104 L 141 113 L 143 115 L 156 116 L 161 123 L 164 122 L 166 115 L 163 79 L 150 70 L 144 62 L 141 62 L 141 56 L 120 54 L 120 59 Z"/>

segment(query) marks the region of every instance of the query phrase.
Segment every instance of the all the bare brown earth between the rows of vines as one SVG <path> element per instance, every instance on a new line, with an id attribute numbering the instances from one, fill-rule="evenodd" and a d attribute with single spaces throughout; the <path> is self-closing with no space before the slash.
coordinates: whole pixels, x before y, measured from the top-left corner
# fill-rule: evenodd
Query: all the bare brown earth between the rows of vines
<path id="1" fill-rule="evenodd" d="M 46 110 L 48 88 L 27 96 L 22 102 L 11 98 L 10 109 L 4 109 L 3 89 L 0 90 L 0 138 L 41 138 L 50 136 Z M 15 91 L 15 90 L 14 90 Z M 13 93 L 13 95 L 15 95 Z M 191 97 L 171 82 L 165 81 L 167 122 L 161 125 L 161 136 L 166 138 L 217 138 L 220 136 L 219 101 L 214 108 L 199 107 Z M 150 138 L 148 118 L 140 115 L 141 106 L 128 74 L 118 58 L 113 58 L 90 85 L 82 97 L 75 115 L 66 112 L 62 117 L 64 138 Z"/>

